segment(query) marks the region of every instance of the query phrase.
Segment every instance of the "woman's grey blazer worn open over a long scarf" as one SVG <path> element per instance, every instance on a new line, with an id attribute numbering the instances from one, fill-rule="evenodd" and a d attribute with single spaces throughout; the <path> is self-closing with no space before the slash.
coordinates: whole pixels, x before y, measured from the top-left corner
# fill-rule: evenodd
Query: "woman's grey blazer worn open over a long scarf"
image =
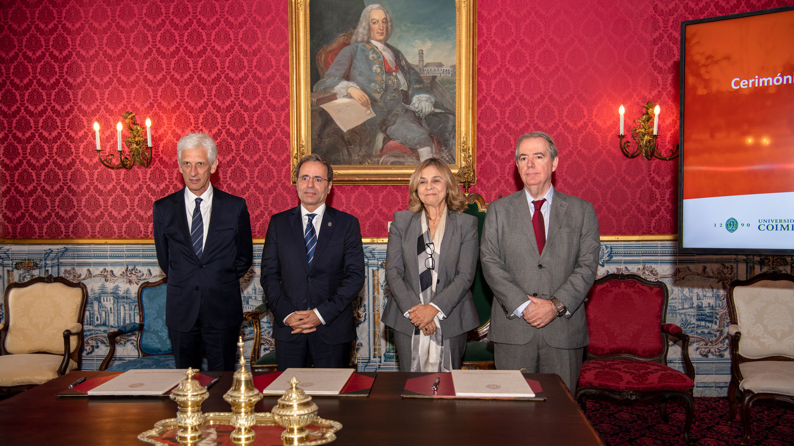
<path id="1" fill-rule="evenodd" d="M 386 248 L 386 281 L 391 297 L 382 321 L 408 336 L 414 325 L 403 314 L 418 303 L 419 271 L 416 240 L 422 233 L 422 213 L 401 210 L 389 229 Z M 433 303 L 446 315 L 441 321 L 444 339 L 466 333 L 480 325 L 469 288 L 477 267 L 477 219 L 450 210 L 447 213 L 441 258 L 436 271 L 438 283 Z"/>

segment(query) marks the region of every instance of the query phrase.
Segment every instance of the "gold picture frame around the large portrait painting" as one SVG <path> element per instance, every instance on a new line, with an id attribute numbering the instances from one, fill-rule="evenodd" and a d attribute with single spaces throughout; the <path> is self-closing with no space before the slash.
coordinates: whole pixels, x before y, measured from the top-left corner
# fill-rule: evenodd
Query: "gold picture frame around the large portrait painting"
<path id="1" fill-rule="evenodd" d="M 318 3 L 322 0 L 314 0 Z M 312 94 L 310 85 L 309 0 L 289 2 L 290 51 L 290 167 L 312 152 Z M 400 0 L 384 0 L 399 3 Z M 456 15 L 454 160 L 449 163 L 461 184 L 476 183 L 476 0 L 454 0 Z M 451 8 L 450 8 L 451 10 Z M 351 30 L 352 31 L 352 30 Z M 352 34 L 352 33 L 351 33 Z M 340 36 L 341 37 L 341 36 Z M 422 76 L 424 77 L 424 76 Z M 449 107 L 451 109 L 451 107 Z M 315 110 L 317 110 L 315 102 Z M 449 113 L 451 114 L 451 113 Z M 451 118 L 450 118 L 451 121 Z M 360 125 L 364 127 L 364 125 Z M 353 132 L 353 129 L 350 130 Z M 372 144 L 375 146 L 375 144 Z M 453 146 L 453 144 L 449 144 Z M 453 148 L 449 147 L 449 160 Z M 385 158 L 385 157 L 384 157 Z M 385 162 L 385 161 L 382 161 Z M 407 184 L 416 163 L 333 164 L 334 184 Z"/>

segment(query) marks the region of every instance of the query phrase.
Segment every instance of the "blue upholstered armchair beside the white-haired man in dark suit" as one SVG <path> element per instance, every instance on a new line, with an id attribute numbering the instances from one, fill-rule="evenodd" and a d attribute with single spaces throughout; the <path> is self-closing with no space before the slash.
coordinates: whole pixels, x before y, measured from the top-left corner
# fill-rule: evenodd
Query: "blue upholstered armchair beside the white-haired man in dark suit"
<path id="1" fill-rule="evenodd" d="M 133 368 L 175 368 L 174 351 L 168 327 L 165 326 L 165 290 L 168 278 L 156 282 L 141 283 L 138 287 L 138 317 L 140 322 L 130 322 L 121 328 L 107 333 L 110 349 L 99 365 L 99 370 L 128 371 Z M 118 362 L 112 367 L 110 363 L 116 353 L 116 343 L 126 342 L 135 333 L 135 344 L 138 357 Z"/>

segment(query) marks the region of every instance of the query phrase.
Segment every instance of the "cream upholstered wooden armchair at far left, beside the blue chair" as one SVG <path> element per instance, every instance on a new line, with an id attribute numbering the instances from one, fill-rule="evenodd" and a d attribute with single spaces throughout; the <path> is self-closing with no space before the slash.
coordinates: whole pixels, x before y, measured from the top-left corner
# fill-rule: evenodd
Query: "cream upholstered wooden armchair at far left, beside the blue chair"
<path id="1" fill-rule="evenodd" d="M 79 369 L 88 290 L 62 277 L 11 283 L 0 324 L 0 394 L 15 394 Z"/>

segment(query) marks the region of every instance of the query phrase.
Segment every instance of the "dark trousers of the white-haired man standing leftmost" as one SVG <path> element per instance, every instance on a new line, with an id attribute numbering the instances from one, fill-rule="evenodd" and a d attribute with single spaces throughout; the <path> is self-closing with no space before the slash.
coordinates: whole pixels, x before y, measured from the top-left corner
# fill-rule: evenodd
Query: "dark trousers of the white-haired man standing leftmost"
<path id="1" fill-rule="evenodd" d="M 193 367 L 201 370 L 202 344 L 210 371 L 234 371 L 237 358 L 237 338 L 240 327 L 233 325 L 228 329 L 214 329 L 209 323 L 202 323 L 201 314 L 189 332 L 168 329 L 174 348 L 176 368 Z"/>

